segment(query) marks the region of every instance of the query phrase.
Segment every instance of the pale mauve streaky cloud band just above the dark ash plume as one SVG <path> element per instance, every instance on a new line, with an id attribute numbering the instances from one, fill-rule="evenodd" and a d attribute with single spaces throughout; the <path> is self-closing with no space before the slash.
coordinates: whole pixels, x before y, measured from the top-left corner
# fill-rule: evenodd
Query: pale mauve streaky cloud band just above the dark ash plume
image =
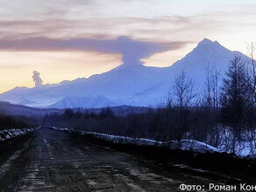
<path id="1" fill-rule="evenodd" d="M 156 30 L 157 26 L 166 25 L 178 26 L 189 23 L 188 17 L 159 17 L 159 18 L 140 18 L 140 17 L 96 17 L 82 19 L 54 18 L 43 20 L 0 20 L 0 38 L 26 38 L 48 37 L 48 38 L 113 38 L 117 37 L 115 31 L 125 35 L 127 31 L 136 29 Z M 139 26 L 139 27 L 138 27 Z M 162 26 L 160 26 L 162 29 Z M 164 28 L 165 29 L 165 28 Z M 134 34 L 136 35 L 136 34 Z M 17 36 L 17 37 L 15 37 Z M 130 36 L 130 34 L 129 34 Z"/>

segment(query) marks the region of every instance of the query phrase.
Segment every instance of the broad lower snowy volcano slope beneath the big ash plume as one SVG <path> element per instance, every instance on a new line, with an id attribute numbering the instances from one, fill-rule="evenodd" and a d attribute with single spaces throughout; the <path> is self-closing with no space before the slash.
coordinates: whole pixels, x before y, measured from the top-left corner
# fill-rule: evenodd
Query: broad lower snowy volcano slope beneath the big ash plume
<path id="1" fill-rule="evenodd" d="M 161 68 L 144 65 L 121 65 L 110 72 L 93 75 L 89 79 L 66 81 L 60 85 L 15 88 L 0 95 L 1 100 L 19 103 L 24 99 L 27 106 L 52 106 L 66 97 L 104 97 L 120 104 L 133 104 L 132 98 L 161 79 Z"/>

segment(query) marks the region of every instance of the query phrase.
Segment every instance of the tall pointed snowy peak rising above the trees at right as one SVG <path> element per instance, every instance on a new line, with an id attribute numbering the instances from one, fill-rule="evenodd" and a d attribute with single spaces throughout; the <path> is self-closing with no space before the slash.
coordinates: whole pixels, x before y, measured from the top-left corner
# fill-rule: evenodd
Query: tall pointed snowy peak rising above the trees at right
<path id="1" fill-rule="evenodd" d="M 245 57 L 241 52 L 230 51 L 217 41 L 212 42 L 204 38 L 185 58 L 176 61 L 174 65 L 170 66 L 169 70 L 175 72 L 175 74 L 184 70 L 197 83 L 203 83 L 208 66 L 210 69 L 214 68 L 223 76 L 230 60 L 235 56 Z"/>

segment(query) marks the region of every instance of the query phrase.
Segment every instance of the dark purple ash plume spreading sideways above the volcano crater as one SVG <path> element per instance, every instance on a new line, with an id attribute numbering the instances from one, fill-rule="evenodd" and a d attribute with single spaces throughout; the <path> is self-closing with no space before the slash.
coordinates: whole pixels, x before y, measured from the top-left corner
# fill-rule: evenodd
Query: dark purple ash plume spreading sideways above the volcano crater
<path id="1" fill-rule="evenodd" d="M 143 42 L 121 36 L 116 39 L 88 38 L 25 38 L 0 40 L 0 49 L 4 51 L 96 51 L 122 54 L 124 64 L 140 64 L 141 58 L 155 53 L 180 49 L 188 42 Z"/>

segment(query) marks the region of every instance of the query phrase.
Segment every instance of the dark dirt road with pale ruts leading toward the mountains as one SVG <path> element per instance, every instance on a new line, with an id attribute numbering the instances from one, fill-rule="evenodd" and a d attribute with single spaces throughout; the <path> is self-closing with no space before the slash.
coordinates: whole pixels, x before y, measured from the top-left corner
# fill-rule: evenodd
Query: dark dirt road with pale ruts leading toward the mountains
<path id="1" fill-rule="evenodd" d="M 181 183 L 221 183 L 48 128 L 1 145 L 1 191 L 179 191 Z"/>

